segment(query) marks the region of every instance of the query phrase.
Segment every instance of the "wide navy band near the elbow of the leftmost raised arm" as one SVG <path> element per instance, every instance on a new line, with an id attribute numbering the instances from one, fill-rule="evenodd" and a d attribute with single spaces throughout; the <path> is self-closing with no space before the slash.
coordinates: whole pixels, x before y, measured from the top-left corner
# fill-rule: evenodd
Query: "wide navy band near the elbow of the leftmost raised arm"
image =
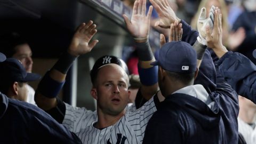
<path id="1" fill-rule="evenodd" d="M 57 82 L 52 79 L 49 75 L 49 71 L 42 78 L 41 82 L 38 84 L 37 90 L 47 98 L 55 98 L 62 89 L 64 82 Z"/>

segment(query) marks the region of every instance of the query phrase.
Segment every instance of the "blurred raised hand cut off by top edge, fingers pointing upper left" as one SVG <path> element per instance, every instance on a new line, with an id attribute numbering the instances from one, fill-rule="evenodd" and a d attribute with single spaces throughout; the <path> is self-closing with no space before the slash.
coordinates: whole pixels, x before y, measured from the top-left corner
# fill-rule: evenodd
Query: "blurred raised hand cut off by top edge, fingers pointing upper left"
<path id="1" fill-rule="evenodd" d="M 162 28 L 170 28 L 171 23 L 174 23 L 175 20 L 180 22 L 180 19 L 176 16 L 171 6 L 167 2 L 167 0 L 149 0 L 150 3 L 155 8 L 159 21 L 155 22 L 155 26 L 159 26 Z"/>

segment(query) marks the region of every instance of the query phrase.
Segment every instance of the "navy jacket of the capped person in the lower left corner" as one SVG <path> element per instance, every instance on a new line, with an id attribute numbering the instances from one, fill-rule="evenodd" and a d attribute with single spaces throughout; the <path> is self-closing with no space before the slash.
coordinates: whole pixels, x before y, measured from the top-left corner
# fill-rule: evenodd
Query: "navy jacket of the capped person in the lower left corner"
<path id="1" fill-rule="evenodd" d="M 0 143 L 82 143 L 42 109 L 0 93 Z"/>

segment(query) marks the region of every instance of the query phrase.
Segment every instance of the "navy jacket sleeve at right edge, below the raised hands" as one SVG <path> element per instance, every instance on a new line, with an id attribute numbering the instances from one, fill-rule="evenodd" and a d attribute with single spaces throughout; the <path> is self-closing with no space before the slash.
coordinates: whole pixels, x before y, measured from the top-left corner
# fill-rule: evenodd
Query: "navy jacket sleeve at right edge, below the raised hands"
<path id="1" fill-rule="evenodd" d="M 243 54 L 227 52 L 218 61 L 219 73 L 233 89 L 256 103 L 256 66 Z"/>

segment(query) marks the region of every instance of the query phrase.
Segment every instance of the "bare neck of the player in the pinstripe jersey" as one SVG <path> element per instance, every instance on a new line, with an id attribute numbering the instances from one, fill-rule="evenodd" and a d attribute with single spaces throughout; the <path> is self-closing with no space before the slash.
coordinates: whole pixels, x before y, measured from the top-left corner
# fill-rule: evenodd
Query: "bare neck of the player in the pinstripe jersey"
<path id="1" fill-rule="evenodd" d="M 102 113 L 103 111 L 101 110 L 97 110 L 97 112 L 98 112 L 98 122 L 94 126 L 97 129 L 102 129 L 102 128 L 116 124 L 119 121 L 119 119 L 121 119 L 125 114 L 125 110 L 116 116 Z"/>

